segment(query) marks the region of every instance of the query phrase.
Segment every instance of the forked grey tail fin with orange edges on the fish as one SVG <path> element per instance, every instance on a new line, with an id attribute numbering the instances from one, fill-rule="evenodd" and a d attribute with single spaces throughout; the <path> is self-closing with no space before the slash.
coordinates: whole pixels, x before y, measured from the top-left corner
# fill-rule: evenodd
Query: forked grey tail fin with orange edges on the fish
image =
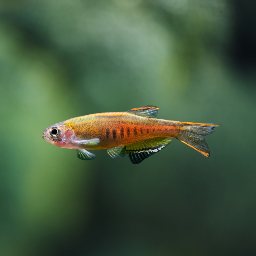
<path id="1" fill-rule="evenodd" d="M 209 157 L 210 150 L 204 136 L 214 132 L 213 128 L 220 125 L 189 122 L 181 122 L 181 124 L 180 132 L 176 138 L 204 156 Z"/>

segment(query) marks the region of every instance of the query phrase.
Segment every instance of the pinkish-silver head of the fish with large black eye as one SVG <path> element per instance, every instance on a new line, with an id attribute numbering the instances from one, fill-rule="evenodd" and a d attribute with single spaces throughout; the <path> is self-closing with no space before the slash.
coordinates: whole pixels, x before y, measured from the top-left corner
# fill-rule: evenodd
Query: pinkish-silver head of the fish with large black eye
<path id="1" fill-rule="evenodd" d="M 55 146 L 65 148 L 74 137 L 74 131 L 70 126 L 66 126 L 64 122 L 53 124 L 46 128 L 42 138 Z"/>

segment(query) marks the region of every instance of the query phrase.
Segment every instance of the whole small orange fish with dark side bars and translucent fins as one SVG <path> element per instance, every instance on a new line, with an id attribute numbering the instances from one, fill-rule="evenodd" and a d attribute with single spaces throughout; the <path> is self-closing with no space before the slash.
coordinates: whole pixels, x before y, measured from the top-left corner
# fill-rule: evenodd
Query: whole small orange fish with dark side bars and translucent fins
<path id="1" fill-rule="evenodd" d="M 46 128 L 42 138 L 60 148 L 76 149 L 78 158 L 92 160 L 87 150 L 106 149 L 112 158 L 126 154 L 139 164 L 170 144 L 173 138 L 209 157 L 204 136 L 220 124 L 157 119 L 159 108 L 144 106 L 126 112 L 107 112 L 71 118 Z"/>

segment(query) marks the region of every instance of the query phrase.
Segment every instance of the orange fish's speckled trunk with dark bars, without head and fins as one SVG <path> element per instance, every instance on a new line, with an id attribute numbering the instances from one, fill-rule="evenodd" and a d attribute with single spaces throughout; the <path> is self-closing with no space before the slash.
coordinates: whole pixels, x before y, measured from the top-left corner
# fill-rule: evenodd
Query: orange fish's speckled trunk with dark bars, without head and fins
<path id="1" fill-rule="evenodd" d="M 127 112 L 91 114 L 65 122 L 81 140 L 99 138 L 100 143 L 94 146 L 94 149 L 113 148 L 156 137 L 175 138 L 179 131 L 178 123 Z M 85 144 L 83 148 L 92 147 Z"/>

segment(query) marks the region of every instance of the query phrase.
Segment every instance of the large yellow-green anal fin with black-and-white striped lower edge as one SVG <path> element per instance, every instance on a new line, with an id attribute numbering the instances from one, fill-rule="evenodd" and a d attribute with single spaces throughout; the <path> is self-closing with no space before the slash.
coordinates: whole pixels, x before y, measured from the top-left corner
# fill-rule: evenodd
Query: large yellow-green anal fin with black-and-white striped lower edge
<path id="1" fill-rule="evenodd" d="M 166 147 L 171 141 L 172 137 L 154 138 L 148 140 L 141 140 L 126 146 L 126 152 L 133 164 L 139 164 L 144 159 L 160 151 Z"/>

